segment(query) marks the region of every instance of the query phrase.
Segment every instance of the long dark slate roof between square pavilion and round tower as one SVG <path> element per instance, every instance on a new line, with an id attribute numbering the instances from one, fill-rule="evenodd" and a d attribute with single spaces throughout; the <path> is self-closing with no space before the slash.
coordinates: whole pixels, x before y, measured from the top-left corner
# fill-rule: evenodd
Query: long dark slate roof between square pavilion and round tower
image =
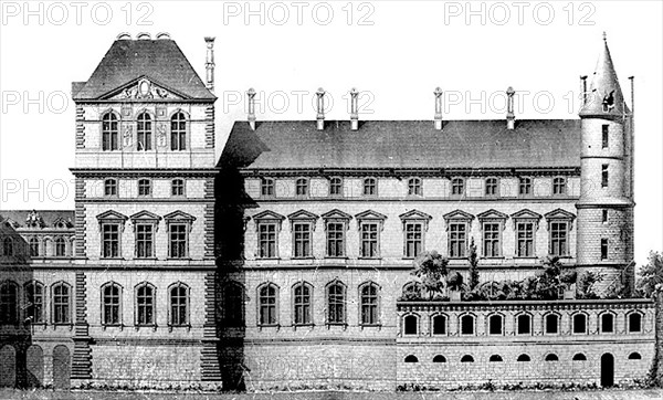
<path id="1" fill-rule="evenodd" d="M 579 119 L 263 122 L 255 131 L 235 122 L 220 167 L 312 168 L 545 168 L 580 167 Z"/>

